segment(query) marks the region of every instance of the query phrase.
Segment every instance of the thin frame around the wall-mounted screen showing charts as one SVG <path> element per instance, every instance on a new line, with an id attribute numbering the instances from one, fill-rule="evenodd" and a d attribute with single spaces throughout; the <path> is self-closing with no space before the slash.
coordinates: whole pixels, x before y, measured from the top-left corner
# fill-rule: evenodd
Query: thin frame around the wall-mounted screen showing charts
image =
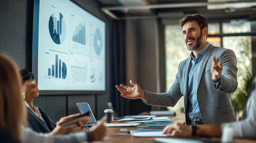
<path id="1" fill-rule="evenodd" d="M 35 74 L 35 80 L 36 83 L 38 83 L 38 36 L 39 36 L 39 1 L 40 0 L 34 0 L 33 5 L 33 39 L 32 39 L 32 72 Z M 90 11 L 86 10 L 84 7 L 79 5 L 77 2 L 70 1 L 73 4 L 77 5 L 78 7 L 82 8 L 83 10 L 87 11 L 88 13 L 92 14 Z M 94 14 L 92 14 L 94 15 Z M 105 20 L 99 18 L 97 15 L 94 15 L 94 17 L 98 18 L 99 20 L 103 21 L 105 23 L 105 38 L 107 39 L 107 23 Z M 106 63 L 107 63 L 107 57 L 106 57 L 106 49 L 107 49 L 107 40 L 104 43 L 105 48 L 105 88 L 104 90 L 98 90 L 98 91 L 89 91 L 89 90 L 40 90 L 40 95 L 78 95 L 78 94 L 104 94 L 106 92 L 107 88 L 107 69 L 106 69 Z"/>

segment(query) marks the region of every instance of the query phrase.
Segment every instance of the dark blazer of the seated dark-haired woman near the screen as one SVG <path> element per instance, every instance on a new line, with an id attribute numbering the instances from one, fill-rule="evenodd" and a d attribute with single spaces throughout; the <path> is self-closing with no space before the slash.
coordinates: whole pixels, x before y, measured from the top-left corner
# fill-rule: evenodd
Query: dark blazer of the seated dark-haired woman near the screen
<path id="1" fill-rule="evenodd" d="M 42 115 L 42 118 L 45 120 L 45 123 L 38 116 L 36 116 L 36 114 L 33 113 L 33 111 L 31 111 L 30 108 L 27 108 L 27 127 L 29 127 L 32 130 L 35 130 L 36 132 L 51 132 L 56 126 L 55 123 L 53 122 L 53 120 L 50 119 L 50 117 L 45 113 L 44 110 L 42 110 L 40 107 L 38 108 Z"/>

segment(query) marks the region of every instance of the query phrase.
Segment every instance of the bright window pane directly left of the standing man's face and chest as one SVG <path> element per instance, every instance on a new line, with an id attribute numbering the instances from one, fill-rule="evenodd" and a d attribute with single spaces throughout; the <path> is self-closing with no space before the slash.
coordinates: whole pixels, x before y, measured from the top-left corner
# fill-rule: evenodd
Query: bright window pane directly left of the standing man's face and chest
<path id="1" fill-rule="evenodd" d="M 190 54 L 190 51 L 187 50 L 183 37 L 180 25 L 171 24 L 165 26 L 166 91 L 169 90 L 175 80 L 178 65 L 181 61 L 189 57 Z M 183 97 L 173 108 L 168 107 L 168 110 L 181 113 L 181 108 L 184 108 Z"/>

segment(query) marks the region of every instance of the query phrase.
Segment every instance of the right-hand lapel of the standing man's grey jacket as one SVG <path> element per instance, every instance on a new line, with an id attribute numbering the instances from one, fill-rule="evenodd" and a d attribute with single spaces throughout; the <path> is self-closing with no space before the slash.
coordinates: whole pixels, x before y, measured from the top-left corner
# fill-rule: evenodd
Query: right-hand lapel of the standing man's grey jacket
<path id="1" fill-rule="evenodd" d="M 209 45 L 207 51 L 205 52 L 205 55 L 203 55 L 203 59 L 202 59 L 202 64 L 200 66 L 200 70 L 199 70 L 199 73 L 198 73 L 198 87 L 199 87 L 199 84 L 201 82 L 201 78 L 202 78 L 202 74 L 203 74 L 203 69 L 205 69 L 205 66 L 206 66 L 206 63 L 208 62 L 209 60 L 209 57 L 211 57 L 211 54 L 212 54 L 212 50 L 214 49 L 214 45 Z"/>

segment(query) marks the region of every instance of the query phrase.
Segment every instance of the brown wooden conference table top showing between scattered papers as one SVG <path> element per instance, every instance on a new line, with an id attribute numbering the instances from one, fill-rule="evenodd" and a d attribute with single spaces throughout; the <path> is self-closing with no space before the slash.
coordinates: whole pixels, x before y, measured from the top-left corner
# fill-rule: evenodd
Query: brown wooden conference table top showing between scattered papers
<path id="1" fill-rule="evenodd" d="M 183 123 L 184 118 L 182 117 L 173 117 L 173 120 L 178 123 Z M 118 122 L 116 120 L 113 120 L 112 123 L 125 123 L 125 122 Z M 145 125 L 144 123 L 141 123 L 141 126 Z M 133 137 L 128 133 L 127 131 L 121 131 L 122 130 L 135 130 L 138 129 L 138 127 L 109 127 L 107 128 L 107 134 L 104 137 L 104 139 L 101 142 L 155 142 L 153 139 L 155 137 L 149 138 L 149 137 Z M 147 129 L 164 129 L 164 127 L 147 127 Z M 171 137 L 168 137 L 171 138 Z M 186 138 L 187 139 L 187 138 Z M 197 136 L 195 138 L 190 138 L 190 139 L 200 139 L 205 142 L 220 142 L 221 138 L 205 138 L 205 137 L 200 137 Z M 252 139 L 238 139 L 235 138 L 233 139 L 233 142 L 246 142 L 246 143 L 252 143 L 256 142 L 256 140 Z"/>

